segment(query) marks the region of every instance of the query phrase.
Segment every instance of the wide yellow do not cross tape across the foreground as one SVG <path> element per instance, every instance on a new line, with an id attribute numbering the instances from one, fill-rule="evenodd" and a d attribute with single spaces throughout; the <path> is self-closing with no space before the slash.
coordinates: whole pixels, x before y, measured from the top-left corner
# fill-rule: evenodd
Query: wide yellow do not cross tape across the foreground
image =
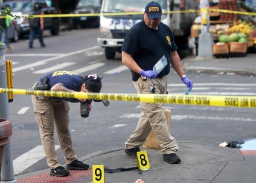
<path id="1" fill-rule="evenodd" d="M 85 93 L 53 92 L 47 90 L 5 89 L 0 93 L 39 95 L 60 98 L 84 98 L 98 100 L 121 100 L 150 103 L 169 103 L 195 106 L 248 107 L 256 108 L 256 97 L 215 96 L 215 95 L 172 95 L 172 94 L 122 94 L 122 93 Z"/>

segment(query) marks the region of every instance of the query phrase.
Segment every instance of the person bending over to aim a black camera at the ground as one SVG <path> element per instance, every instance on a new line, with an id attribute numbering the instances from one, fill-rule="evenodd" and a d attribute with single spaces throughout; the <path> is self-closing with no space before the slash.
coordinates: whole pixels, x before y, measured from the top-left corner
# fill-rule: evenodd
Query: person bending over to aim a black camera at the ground
<path id="1" fill-rule="evenodd" d="M 101 78 L 96 74 L 82 77 L 72 71 L 55 71 L 41 77 L 32 89 L 62 92 L 100 92 L 101 87 Z M 69 130 L 68 102 L 83 103 L 86 101 L 86 99 L 32 95 L 35 119 L 39 126 L 47 164 L 51 168 L 51 175 L 62 177 L 70 174 L 68 170 L 85 170 L 89 168 L 89 165 L 77 160 Z M 88 109 L 90 112 L 90 104 L 88 104 Z M 56 129 L 61 151 L 67 163 L 66 169 L 57 160 L 53 139 L 54 129 Z"/>

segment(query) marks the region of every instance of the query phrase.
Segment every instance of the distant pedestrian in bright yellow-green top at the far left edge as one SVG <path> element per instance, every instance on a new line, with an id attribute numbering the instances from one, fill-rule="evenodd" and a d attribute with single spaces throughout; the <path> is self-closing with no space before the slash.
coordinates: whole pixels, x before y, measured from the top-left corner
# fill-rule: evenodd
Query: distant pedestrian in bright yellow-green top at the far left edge
<path id="1" fill-rule="evenodd" d="M 5 7 L 2 7 L 1 10 L 4 11 L 6 8 L 11 9 L 11 6 L 6 5 Z M 3 27 L 1 41 L 6 44 L 7 50 L 11 51 L 13 47 L 10 46 L 9 35 L 8 35 L 10 23 L 12 22 L 14 29 L 16 31 L 18 30 L 18 27 L 17 27 L 16 21 L 14 20 L 14 17 L 11 17 L 8 14 L 2 14 L 2 15 L 5 15 L 6 17 L 0 19 L 1 20 L 0 26 Z"/>

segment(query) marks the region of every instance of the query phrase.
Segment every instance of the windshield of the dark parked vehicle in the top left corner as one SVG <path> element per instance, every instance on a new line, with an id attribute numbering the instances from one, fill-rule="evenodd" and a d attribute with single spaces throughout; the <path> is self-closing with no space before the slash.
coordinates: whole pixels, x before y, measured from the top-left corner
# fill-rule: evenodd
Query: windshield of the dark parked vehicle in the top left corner
<path id="1" fill-rule="evenodd" d="M 31 1 L 6 1 L 3 3 L 3 6 L 9 5 L 11 6 L 11 11 L 21 11 L 27 12 L 32 11 L 32 2 Z"/>

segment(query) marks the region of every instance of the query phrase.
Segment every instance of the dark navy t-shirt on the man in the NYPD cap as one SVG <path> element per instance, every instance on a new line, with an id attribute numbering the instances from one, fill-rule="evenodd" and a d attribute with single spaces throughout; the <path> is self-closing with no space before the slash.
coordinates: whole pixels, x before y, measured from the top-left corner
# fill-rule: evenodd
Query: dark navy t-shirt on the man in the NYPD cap
<path id="1" fill-rule="evenodd" d="M 153 66 L 165 55 L 168 64 L 157 77 L 169 74 L 170 54 L 176 50 L 177 46 L 169 26 L 160 23 L 158 29 L 154 30 L 146 26 L 144 20 L 128 31 L 122 44 L 122 51 L 133 55 L 136 63 L 145 71 L 153 70 Z"/>

